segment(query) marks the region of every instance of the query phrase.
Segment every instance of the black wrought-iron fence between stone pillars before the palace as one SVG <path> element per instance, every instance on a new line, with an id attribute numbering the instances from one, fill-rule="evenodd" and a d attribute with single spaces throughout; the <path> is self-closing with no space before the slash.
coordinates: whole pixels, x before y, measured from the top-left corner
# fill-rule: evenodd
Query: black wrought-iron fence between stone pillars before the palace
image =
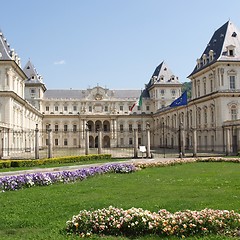
<path id="1" fill-rule="evenodd" d="M 238 152 L 238 131 L 237 127 L 230 128 L 229 149 L 230 154 Z M 134 135 L 137 131 L 137 135 Z M 196 131 L 194 143 L 194 131 Z M 183 141 L 181 142 L 181 132 Z M 38 132 L 39 158 L 48 158 L 49 141 L 51 140 L 52 156 L 75 156 L 86 153 L 86 131 L 48 129 Z M 88 131 L 88 154 L 99 152 L 99 131 Z M 118 129 L 115 131 L 102 131 L 101 153 L 111 154 L 114 158 L 133 158 L 134 144 L 139 146 L 147 145 L 146 130 Z M 184 147 L 185 156 L 192 156 L 194 144 L 196 144 L 198 156 L 215 156 L 226 154 L 226 135 L 223 127 L 210 128 L 171 128 L 165 126 L 151 127 L 150 146 L 151 153 L 155 158 L 179 157 L 181 145 Z M 31 130 L 9 130 L 2 129 L 0 142 L 0 155 L 3 159 L 34 159 L 36 151 L 36 129 Z M 138 150 L 138 157 L 146 155 Z"/>

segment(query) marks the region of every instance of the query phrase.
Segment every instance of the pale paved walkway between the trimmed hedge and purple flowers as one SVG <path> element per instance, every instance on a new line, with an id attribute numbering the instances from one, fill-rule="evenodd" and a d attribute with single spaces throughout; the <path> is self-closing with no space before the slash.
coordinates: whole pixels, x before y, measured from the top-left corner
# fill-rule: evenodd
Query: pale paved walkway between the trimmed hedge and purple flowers
<path id="1" fill-rule="evenodd" d="M 158 159 L 146 159 L 146 158 L 138 158 L 131 159 L 126 161 L 117 161 L 117 162 L 108 162 L 108 163 L 94 163 L 94 164 L 85 164 L 85 165 L 74 165 L 74 166 L 63 166 L 63 167 L 53 167 L 53 168 L 32 168 L 29 170 L 20 170 L 20 171 L 10 171 L 10 172 L 0 172 L 0 178 L 5 176 L 16 176 L 22 174 L 29 173 L 49 173 L 49 172 L 62 172 L 62 171 L 75 171 L 81 168 L 89 168 L 89 167 L 97 167 L 106 164 L 112 163 L 141 163 L 141 162 L 159 162 L 159 161 L 168 161 L 174 160 L 176 158 L 158 158 Z"/>

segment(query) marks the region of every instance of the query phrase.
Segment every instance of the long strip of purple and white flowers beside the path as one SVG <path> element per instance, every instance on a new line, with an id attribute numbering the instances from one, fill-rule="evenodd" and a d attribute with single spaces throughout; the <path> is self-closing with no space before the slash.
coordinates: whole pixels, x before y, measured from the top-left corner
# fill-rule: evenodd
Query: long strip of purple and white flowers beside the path
<path id="1" fill-rule="evenodd" d="M 0 178 L 0 191 L 13 191 L 32 186 L 47 186 L 54 183 L 68 183 L 84 180 L 103 173 L 130 173 L 135 171 L 131 164 L 106 164 L 99 167 L 82 168 L 75 171 L 56 173 L 32 173 Z"/>

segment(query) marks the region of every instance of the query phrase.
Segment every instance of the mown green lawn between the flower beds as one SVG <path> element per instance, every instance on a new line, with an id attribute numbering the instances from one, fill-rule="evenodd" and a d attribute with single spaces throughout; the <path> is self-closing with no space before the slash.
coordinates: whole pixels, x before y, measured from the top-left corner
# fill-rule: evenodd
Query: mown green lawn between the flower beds
<path id="1" fill-rule="evenodd" d="M 236 163 L 191 163 L 1 193 L 0 239 L 77 239 L 60 234 L 65 222 L 80 210 L 109 205 L 151 211 L 213 208 L 240 212 L 239 173 L 240 164 Z M 146 236 L 137 239 L 160 238 Z"/>

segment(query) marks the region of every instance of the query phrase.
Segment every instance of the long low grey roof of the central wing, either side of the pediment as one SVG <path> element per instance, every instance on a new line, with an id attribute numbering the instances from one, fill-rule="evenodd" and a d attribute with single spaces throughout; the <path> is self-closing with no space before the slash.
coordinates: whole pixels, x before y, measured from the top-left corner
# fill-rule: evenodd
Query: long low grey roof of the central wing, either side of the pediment
<path id="1" fill-rule="evenodd" d="M 91 90 L 90 90 L 91 91 Z M 59 90 L 50 89 L 44 93 L 44 99 L 76 99 L 81 100 L 87 98 L 90 94 L 87 90 Z M 141 90 L 108 90 L 107 96 L 113 99 L 135 99 L 140 97 Z M 146 90 L 142 91 L 143 97 L 149 97 Z"/>

